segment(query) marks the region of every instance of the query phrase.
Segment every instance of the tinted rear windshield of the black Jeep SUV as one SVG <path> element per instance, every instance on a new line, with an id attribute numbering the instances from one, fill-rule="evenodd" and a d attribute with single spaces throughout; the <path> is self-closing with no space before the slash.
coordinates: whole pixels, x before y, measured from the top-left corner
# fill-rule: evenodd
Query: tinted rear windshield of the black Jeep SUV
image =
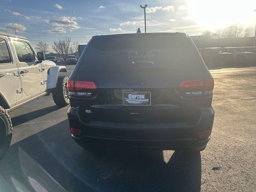
<path id="1" fill-rule="evenodd" d="M 184 34 L 97 37 L 89 44 L 78 73 L 198 72 L 200 66 L 193 46 Z"/>

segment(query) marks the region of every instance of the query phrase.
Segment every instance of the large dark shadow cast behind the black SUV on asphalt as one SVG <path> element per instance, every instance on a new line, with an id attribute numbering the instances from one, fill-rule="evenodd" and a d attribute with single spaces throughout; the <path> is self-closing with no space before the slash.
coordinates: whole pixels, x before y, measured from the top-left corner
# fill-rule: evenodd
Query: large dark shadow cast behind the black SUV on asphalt
<path id="1" fill-rule="evenodd" d="M 62 121 L 10 146 L 0 191 L 200 191 L 200 152 L 85 150 Z"/>

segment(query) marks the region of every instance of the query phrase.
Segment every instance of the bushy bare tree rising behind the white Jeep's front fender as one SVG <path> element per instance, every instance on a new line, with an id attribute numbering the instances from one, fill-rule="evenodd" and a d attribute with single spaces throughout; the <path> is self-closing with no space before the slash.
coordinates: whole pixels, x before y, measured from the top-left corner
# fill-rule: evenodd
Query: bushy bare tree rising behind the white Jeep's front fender
<path id="1" fill-rule="evenodd" d="M 65 37 L 59 39 L 59 41 L 53 41 L 52 49 L 61 55 L 61 57 L 66 58 L 67 55 L 74 52 L 72 45 L 70 44 L 71 37 Z"/>

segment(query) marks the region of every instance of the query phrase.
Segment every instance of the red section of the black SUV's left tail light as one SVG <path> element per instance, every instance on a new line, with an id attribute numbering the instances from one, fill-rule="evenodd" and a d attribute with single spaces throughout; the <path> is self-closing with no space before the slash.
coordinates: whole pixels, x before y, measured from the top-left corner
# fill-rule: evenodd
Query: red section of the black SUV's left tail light
<path id="1" fill-rule="evenodd" d="M 77 81 L 74 79 L 68 79 L 68 91 L 81 90 L 81 89 L 96 89 L 96 84 L 92 81 Z"/>

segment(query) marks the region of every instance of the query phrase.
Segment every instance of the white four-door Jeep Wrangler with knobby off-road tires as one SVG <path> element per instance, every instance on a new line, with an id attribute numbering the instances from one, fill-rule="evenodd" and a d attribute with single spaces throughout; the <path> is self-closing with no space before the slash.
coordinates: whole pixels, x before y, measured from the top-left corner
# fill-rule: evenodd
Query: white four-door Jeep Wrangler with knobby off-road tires
<path id="1" fill-rule="evenodd" d="M 12 140 L 12 121 L 7 112 L 52 92 L 56 105 L 69 104 L 65 66 L 45 60 L 26 37 L 0 32 L 0 159 Z"/>

